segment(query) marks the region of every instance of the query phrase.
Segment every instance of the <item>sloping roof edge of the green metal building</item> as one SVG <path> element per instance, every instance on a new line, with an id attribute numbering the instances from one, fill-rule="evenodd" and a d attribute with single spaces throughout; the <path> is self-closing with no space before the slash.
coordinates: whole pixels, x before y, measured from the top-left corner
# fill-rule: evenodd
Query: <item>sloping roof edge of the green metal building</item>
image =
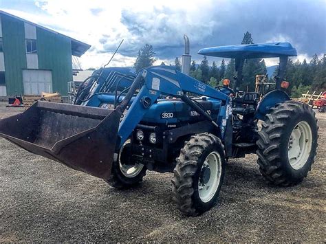
<path id="1" fill-rule="evenodd" d="M 41 25 L 38 25 L 36 23 L 32 23 L 32 22 L 27 21 L 25 19 L 21 19 L 20 17 L 9 14 L 8 12 L 4 12 L 4 11 L 0 10 L 0 14 L 10 16 L 10 17 L 12 17 L 14 19 L 18 19 L 18 20 L 23 21 L 25 23 L 29 23 L 30 25 L 34 25 L 34 26 L 39 27 L 39 28 L 41 28 L 43 30 L 46 30 L 48 32 L 58 34 L 59 36 L 65 36 L 64 34 L 58 33 L 58 32 L 56 32 L 54 30 L 50 30 L 47 27 L 43 27 Z M 74 55 L 74 56 L 78 56 L 78 57 L 82 56 L 89 49 L 89 47 L 91 47 L 91 45 L 89 45 L 87 43 L 83 43 L 82 41 L 78 41 L 78 40 L 76 40 L 74 38 L 71 38 L 69 36 L 65 36 L 65 37 L 69 38 L 72 41 L 72 55 Z"/>

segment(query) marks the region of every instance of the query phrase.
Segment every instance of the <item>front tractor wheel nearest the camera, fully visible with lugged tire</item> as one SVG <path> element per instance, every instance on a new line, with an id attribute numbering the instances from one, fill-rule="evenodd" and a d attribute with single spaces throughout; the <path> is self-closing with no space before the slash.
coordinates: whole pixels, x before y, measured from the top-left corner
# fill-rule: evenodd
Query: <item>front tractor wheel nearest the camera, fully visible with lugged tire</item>
<path id="1" fill-rule="evenodd" d="M 225 164 L 224 146 L 215 135 L 197 134 L 185 143 L 172 179 L 173 201 L 183 214 L 197 216 L 214 206 Z"/>

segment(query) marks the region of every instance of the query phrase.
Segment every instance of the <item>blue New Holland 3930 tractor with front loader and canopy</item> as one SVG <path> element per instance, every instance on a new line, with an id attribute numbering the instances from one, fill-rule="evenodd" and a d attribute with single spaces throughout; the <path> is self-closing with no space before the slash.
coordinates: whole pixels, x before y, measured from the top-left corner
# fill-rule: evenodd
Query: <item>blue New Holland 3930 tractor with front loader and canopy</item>
<path id="1" fill-rule="evenodd" d="M 74 104 L 39 101 L 0 120 L 0 135 L 31 153 L 131 188 L 146 170 L 174 174 L 173 200 L 190 216 L 217 201 L 230 158 L 257 153 L 271 184 L 303 181 L 316 156 L 318 126 L 307 104 L 290 100 L 283 80 L 290 43 L 209 47 L 199 54 L 235 58 L 234 86 L 188 76 L 188 38 L 182 71 L 171 66 L 102 68 L 80 86 Z M 275 89 L 239 90 L 248 58 L 279 57 Z M 259 129 L 259 120 L 261 129 Z"/>

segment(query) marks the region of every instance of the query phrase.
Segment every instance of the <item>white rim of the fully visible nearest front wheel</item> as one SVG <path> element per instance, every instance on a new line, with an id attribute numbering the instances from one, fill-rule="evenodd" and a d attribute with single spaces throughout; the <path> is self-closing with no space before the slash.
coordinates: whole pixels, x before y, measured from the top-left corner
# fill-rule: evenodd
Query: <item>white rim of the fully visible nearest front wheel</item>
<path id="1" fill-rule="evenodd" d="M 221 156 L 217 151 L 210 153 L 202 165 L 199 173 L 199 198 L 207 203 L 213 199 L 221 181 Z"/>

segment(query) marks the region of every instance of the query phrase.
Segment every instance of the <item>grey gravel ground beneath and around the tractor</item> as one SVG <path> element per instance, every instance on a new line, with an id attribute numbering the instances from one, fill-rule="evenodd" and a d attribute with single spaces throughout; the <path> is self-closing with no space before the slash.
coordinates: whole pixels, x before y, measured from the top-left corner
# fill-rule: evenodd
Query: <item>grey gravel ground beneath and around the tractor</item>
<path id="1" fill-rule="evenodd" d="M 1 103 L 0 118 L 21 110 Z M 175 208 L 169 173 L 115 190 L 0 139 L 0 241 L 326 241 L 326 114 L 317 117 L 317 159 L 302 184 L 268 186 L 256 155 L 232 159 L 217 206 L 191 218 Z"/>

